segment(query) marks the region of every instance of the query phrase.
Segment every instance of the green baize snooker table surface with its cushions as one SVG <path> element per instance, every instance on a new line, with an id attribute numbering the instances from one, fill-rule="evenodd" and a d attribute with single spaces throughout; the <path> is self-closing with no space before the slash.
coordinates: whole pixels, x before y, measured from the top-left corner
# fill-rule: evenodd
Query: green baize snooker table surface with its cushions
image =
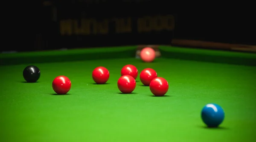
<path id="1" fill-rule="evenodd" d="M 256 54 L 160 46 L 162 56 L 143 63 L 137 46 L 0 54 L 1 142 L 255 142 Z M 36 83 L 22 71 L 41 70 Z M 154 97 L 138 77 L 131 94 L 117 80 L 125 64 L 139 73 L 150 67 L 169 82 Z M 94 84 L 92 71 L 108 68 L 107 84 Z M 52 81 L 70 78 L 67 95 L 55 95 Z M 139 76 L 139 75 L 138 75 Z M 207 128 L 201 109 L 219 104 L 218 128 Z"/>

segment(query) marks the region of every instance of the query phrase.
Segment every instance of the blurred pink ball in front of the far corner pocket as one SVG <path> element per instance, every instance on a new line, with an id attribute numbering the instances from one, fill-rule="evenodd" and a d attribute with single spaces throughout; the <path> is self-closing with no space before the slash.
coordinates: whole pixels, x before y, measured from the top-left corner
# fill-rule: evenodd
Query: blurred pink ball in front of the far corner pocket
<path id="1" fill-rule="evenodd" d="M 156 57 L 155 50 L 151 47 L 145 47 L 140 51 L 140 58 L 144 62 L 152 62 Z"/>

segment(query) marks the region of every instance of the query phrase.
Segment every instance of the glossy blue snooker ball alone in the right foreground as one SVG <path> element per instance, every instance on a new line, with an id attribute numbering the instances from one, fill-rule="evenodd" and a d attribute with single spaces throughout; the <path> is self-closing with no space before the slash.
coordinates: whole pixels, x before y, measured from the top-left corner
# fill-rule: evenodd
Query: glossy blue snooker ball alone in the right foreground
<path id="1" fill-rule="evenodd" d="M 201 118 L 208 127 L 218 127 L 224 120 L 224 111 L 221 106 L 209 103 L 202 109 Z"/>

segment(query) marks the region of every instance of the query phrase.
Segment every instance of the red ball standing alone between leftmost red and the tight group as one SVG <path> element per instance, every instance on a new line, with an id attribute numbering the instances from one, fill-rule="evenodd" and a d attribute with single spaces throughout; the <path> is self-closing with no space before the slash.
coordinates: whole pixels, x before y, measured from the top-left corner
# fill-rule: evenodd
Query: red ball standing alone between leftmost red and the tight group
<path id="1" fill-rule="evenodd" d="M 96 84 L 105 84 L 109 79 L 109 71 L 105 67 L 96 67 L 93 70 L 93 81 Z"/>

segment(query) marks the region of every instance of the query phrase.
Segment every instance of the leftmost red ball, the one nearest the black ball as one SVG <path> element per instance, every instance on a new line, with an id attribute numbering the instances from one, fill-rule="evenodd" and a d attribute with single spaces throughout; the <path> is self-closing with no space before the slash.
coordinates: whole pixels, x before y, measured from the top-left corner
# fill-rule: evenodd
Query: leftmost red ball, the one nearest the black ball
<path id="1" fill-rule="evenodd" d="M 71 81 L 66 76 L 58 76 L 52 81 L 52 89 L 57 94 L 67 94 L 71 88 Z"/>

